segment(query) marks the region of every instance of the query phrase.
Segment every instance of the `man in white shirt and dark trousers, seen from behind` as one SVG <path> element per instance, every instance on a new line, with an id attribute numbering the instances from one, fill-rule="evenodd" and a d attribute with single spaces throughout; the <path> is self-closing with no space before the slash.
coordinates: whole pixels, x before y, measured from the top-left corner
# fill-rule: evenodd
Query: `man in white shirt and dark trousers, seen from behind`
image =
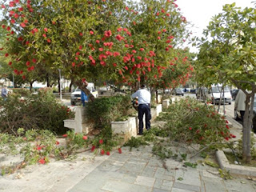
<path id="1" fill-rule="evenodd" d="M 146 90 L 146 86 L 142 85 L 141 89 L 131 95 L 132 98 L 138 98 L 138 134 L 143 134 L 143 116 L 146 115 L 146 130 L 150 130 L 150 91 Z"/>

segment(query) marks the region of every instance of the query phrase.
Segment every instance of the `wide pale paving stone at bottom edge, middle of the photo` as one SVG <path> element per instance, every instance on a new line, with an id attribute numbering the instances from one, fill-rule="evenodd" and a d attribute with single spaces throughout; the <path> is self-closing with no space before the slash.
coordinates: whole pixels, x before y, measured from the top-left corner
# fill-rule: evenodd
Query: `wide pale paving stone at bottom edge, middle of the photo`
<path id="1" fill-rule="evenodd" d="M 126 182 L 107 181 L 106 184 L 102 186 L 102 190 L 112 192 L 149 192 L 152 190 L 152 188 L 148 186 L 138 186 Z"/>

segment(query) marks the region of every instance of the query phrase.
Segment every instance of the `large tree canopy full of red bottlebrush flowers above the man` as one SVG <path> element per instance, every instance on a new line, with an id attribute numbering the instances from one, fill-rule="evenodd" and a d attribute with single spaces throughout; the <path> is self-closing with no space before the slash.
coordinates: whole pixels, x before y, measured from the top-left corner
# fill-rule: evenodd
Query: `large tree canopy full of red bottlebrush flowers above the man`
<path id="1" fill-rule="evenodd" d="M 186 18 L 169 0 L 0 2 L 14 73 L 25 79 L 38 66 L 60 69 L 86 94 L 82 82 L 94 77 L 129 85 L 158 80 L 188 37 Z"/>

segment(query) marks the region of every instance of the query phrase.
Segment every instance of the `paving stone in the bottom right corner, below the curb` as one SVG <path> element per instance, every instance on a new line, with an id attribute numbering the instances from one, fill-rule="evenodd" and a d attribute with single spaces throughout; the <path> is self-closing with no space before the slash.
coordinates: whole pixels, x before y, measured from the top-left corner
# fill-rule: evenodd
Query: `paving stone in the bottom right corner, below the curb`
<path id="1" fill-rule="evenodd" d="M 255 192 L 253 186 L 250 185 L 248 180 L 245 179 L 232 179 L 232 180 L 224 180 L 223 181 L 226 189 L 229 191 L 246 191 L 246 192 Z M 245 182 L 242 184 L 242 182 Z"/>

